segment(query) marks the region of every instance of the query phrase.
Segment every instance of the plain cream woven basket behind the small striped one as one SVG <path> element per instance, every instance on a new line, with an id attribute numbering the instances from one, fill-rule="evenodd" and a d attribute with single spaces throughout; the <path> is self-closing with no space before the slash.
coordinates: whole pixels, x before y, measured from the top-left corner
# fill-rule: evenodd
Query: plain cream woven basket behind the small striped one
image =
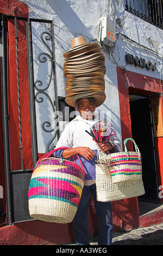
<path id="1" fill-rule="evenodd" d="M 106 164 L 96 164 L 97 201 L 109 202 L 145 194 L 142 180 L 113 183 Z"/>

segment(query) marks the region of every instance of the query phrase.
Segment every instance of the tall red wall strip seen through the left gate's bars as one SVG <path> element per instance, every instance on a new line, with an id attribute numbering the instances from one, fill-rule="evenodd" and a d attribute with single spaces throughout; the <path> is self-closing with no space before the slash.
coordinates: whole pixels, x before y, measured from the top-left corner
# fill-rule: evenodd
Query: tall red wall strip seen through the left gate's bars
<path id="1" fill-rule="evenodd" d="M 32 168 L 32 145 L 30 134 L 29 85 L 27 65 L 26 24 L 17 21 L 18 64 L 20 77 L 21 125 L 24 169 Z M 9 138 L 11 170 L 21 169 L 20 135 L 17 101 L 17 72 L 15 48 L 15 22 L 8 21 L 8 105 L 9 105 Z"/>

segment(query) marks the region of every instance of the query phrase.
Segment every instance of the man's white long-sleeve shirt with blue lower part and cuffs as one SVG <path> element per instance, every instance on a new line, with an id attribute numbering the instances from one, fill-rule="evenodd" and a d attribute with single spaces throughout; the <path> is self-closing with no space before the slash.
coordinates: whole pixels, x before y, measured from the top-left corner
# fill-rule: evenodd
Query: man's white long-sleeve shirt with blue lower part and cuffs
<path id="1" fill-rule="evenodd" d="M 93 157 L 93 159 L 89 161 L 87 161 L 83 156 L 79 155 L 80 160 L 82 161 L 85 169 L 85 181 L 96 179 L 95 164 L 97 161 L 97 150 L 98 150 L 98 146 L 96 142 L 93 141 L 92 137 L 88 133 L 86 133 L 85 130 L 90 132 L 90 127 L 95 123 L 98 123 L 99 121 L 102 121 L 102 120 L 99 120 L 98 114 L 96 115 L 96 119 L 94 120 L 85 120 L 82 117 L 80 117 L 80 115 L 78 115 L 70 123 L 67 124 L 56 146 L 56 149 L 60 147 L 69 147 L 69 148 L 89 147 L 94 151 L 95 157 Z M 112 131 L 112 133 L 115 133 L 115 131 Z M 120 142 L 117 139 L 116 134 L 111 136 L 109 139 L 115 145 L 115 152 L 120 151 L 121 146 L 120 146 Z M 57 150 L 54 153 L 55 157 L 62 158 L 63 150 L 64 149 Z M 76 160 L 76 163 L 79 164 L 80 166 L 80 162 L 76 156 L 74 156 L 74 159 Z"/>

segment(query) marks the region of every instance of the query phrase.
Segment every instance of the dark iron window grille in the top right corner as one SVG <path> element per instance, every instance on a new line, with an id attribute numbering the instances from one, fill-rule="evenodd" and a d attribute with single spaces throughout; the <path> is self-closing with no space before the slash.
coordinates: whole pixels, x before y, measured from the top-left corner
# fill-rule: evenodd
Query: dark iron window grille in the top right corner
<path id="1" fill-rule="evenodd" d="M 126 0 L 126 11 L 163 29 L 163 0 Z"/>

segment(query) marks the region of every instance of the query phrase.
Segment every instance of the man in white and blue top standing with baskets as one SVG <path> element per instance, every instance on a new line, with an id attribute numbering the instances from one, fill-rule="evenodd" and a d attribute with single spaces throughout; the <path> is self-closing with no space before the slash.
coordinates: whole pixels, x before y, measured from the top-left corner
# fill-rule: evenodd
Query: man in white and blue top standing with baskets
<path id="1" fill-rule="evenodd" d="M 56 148 L 69 147 L 70 149 L 55 152 L 56 157 L 64 159 L 70 159 L 74 156 L 76 163 L 80 165 L 75 156 L 78 154 L 85 169 L 85 184 L 82 198 L 80 199 L 78 210 L 73 220 L 73 231 L 77 245 L 89 245 L 87 211 L 89 209 L 91 193 L 98 218 L 98 245 L 111 245 L 112 240 L 111 202 L 98 202 L 96 200 L 95 164 L 98 148 L 105 152 L 114 153 L 120 148 L 120 143 L 117 137 L 113 135 L 110 137 L 111 144 L 106 140 L 97 145 L 91 136 L 85 132 L 85 130 L 89 131 L 92 125 L 101 121 L 99 120 L 98 114 L 95 113 L 95 103 L 95 100 L 91 97 L 77 100 L 76 108 L 80 115 L 68 123 L 56 146 Z M 115 131 L 112 133 L 115 133 Z"/>

